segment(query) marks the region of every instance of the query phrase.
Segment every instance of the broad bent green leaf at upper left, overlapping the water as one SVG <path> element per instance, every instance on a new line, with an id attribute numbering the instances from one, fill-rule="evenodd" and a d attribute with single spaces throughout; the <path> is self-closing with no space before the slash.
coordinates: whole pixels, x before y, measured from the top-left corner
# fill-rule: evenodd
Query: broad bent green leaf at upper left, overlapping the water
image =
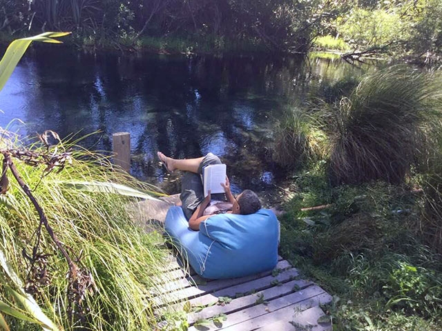
<path id="1" fill-rule="evenodd" d="M 17 63 L 19 63 L 23 54 L 25 54 L 32 41 L 41 41 L 44 43 L 61 43 L 61 41 L 51 39 L 51 37 L 63 37 L 70 32 L 45 32 L 34 37 L 17 39 L 8 46 L 3 58 L 0 61 L 0 90 L 5 86 Z"/>

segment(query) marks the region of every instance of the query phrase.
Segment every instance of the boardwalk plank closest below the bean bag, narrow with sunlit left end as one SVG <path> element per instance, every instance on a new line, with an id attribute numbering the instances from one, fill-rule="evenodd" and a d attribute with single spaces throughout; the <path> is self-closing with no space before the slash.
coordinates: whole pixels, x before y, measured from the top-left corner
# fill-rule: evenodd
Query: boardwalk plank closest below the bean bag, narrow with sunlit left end
<path id="1" fill-rule="evenodd" d="M 276 268 L 286 269 L 290 268 L 290 263 L 287 261 L 279 261 L 276 265 Z M 267 272 L 261 272 L 260 274 L 251 274 L 250 276 L 245 277 L 237 277 L 237 278 L 229 278 L 229 279 L 217 279 L 217 280 L 207 280 L 200 277 L 198 274 L 195 274 L 193 277 L 186 277 L 185 279 L 177 279 L 176 281 L 166 283 L 160 287 L 160 290 L 164 290 L 165 292 L 171 292 L 173 290 L 179 290 L 182 288 L 189 288 L 192 286 L 197 286 L 200 290 L 204 292 L 213 292 L 213 288 L 222 288 L 229 287 L 232 285 L 236 285 L 239 283 L 244 283 L 246 281 L 251 281 L 253 279 L 257 279 L 262 276 L 266 276 L 271 274 L 273 270 L 269 270 Z"/>

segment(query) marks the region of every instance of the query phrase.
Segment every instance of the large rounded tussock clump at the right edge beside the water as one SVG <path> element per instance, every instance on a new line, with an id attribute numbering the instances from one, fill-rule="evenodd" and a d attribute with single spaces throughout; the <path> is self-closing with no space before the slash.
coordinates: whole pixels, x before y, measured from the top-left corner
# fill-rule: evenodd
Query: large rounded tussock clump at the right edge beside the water
<path id="1" fill-rule="evenodd" d="M 442 75 L 393 66 L 368 74 L 327 115 L 334 183 L 403 182 L 441 128 Z M 435 129 L 436 128 L 436 129 Z"/>

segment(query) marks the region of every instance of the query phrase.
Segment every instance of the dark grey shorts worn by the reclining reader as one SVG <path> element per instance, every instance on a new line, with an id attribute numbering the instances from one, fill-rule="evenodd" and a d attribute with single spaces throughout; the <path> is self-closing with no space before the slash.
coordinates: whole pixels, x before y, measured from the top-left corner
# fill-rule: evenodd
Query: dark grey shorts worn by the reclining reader
<path id="1" fill-rule="evenodd" d="M 195 172 L 185 171 L 181 179 L 181 194 L 180 199 L 182 202 L 182 210 L 186 219 L 189 221 L 195 209 L 204 200 L 204 189 L 202 187 L 201 175 L 202 170 L 206 168 L 207 165 L 211 164 L 221 164 L 220 158 L 215 154 L 208 153 L 204 159 L 202 159 L 200 166 L 198 167 L 198 174 Z M 212 200 L 226 200 L 226 194 L 218 193 L 211 194 Z"/>

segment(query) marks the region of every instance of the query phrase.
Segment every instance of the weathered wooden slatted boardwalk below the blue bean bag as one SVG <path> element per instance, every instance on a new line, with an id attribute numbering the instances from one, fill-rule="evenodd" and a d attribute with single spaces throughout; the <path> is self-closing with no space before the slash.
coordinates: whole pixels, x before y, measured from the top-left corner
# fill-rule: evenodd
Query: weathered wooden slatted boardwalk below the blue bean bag
<path id="1" fill-rule="evenodd" d="M 192 273 L 192 272 L 191 272 Z M 184 272 L 172 261 L 164 268 L 160 291 L 166 298 L 157 307 L 188 312 L 189 331 L 195 330 L 332 330 L 320 305 L 332 297 L 280 259 L 273 271 L 235 279 L 207 280 Z"/>

